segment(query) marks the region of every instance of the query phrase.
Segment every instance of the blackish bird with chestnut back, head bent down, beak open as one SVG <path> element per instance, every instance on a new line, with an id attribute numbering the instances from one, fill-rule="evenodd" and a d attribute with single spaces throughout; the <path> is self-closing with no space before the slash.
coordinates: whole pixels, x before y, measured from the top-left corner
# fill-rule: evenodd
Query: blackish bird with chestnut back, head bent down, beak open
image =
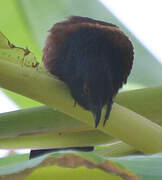
<path id="1" fill-rule="evenodd" d="M 45 67 L 67 84 L 80 106 L 93 113 L 95 127 L 104 105 L 104 124 L 108 119 L 133 58 L 131 41 L 116 25 L 80 16 L 55 24 L 43 49 Z"/>

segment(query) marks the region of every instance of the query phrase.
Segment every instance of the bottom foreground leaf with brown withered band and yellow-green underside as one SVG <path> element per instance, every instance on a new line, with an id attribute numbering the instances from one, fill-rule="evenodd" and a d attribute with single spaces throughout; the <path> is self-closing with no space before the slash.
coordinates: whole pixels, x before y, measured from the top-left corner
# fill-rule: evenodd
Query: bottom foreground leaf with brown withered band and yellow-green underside
<path id="1" fill-rule="evenodd" d="M 28 161 L 3 166 L 0 169 L 0 175 L 3 178 L 9 177 L 26 179 L 87 179 L 100 177 L 102 179 L 127 180 L 139 178 L 130 173 L 120 165 L 105 160 L 94 153 L 77 153 L 73 152 L 64 154 L 52 153 L 50 156 L 45 155 Z M 1 176 L 0 176 L 1 177 Z"/>

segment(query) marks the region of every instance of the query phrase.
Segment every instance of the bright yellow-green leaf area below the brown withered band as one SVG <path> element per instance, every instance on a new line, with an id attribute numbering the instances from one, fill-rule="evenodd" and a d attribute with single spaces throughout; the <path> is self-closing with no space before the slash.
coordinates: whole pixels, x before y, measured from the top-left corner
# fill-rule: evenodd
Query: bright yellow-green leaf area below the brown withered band
<path id="1" fill-rule="evenodd" d="M 66 178 L 65 178 L 66 177 Z M 124 180 L 123 178 L 106 173 L 100 169 L 87 169 L 86 167 L 78 167 L 75 169 L 62 168 L 57 166 L 48 166 L 35 170 L 29 177 L 25 180 L 44 180 L 44 179 L 71 179 L 71 180 L 89 180 L 93 179 L 111 179 L 111 180 Z"/>

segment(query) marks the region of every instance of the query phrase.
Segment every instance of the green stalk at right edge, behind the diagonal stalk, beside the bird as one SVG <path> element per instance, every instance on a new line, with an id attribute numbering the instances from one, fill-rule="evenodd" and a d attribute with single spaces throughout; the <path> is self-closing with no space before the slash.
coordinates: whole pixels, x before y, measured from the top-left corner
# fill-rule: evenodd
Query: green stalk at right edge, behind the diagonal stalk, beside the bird
<path id="1" fill-rule="evenodd" d="M 162 125 L 162 86 L 119 93 L 115 102 Z"/>

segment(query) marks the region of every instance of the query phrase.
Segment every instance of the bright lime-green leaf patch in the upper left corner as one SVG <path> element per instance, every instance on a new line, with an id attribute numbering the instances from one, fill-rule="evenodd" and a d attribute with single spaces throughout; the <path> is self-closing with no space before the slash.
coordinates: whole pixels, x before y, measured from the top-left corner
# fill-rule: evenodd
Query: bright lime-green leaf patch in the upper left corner
<path id="1" fill-rule="evenodd" d="M 34 51 L 37 58 L 41 57 L 41 51 L 33 40 L 30 29 L 24 22 L 24 17 L 21 15 L 16 1 L 5 0 L 1 2 L 0 27 L 0 31 L 14 44 L 29 48 Z"/>

